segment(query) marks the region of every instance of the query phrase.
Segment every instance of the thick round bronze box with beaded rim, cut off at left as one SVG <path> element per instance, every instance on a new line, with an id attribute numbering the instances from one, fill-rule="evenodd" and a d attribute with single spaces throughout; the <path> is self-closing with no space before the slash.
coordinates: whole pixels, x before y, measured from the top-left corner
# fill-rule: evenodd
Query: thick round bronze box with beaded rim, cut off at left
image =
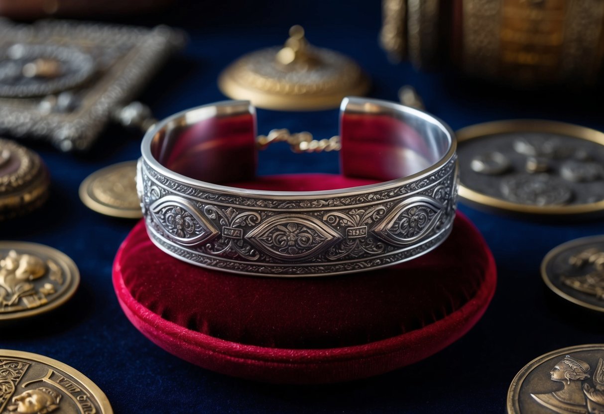
<path id="1" fill-rule="evenodd" d="M 49 184 L 46 165 L 38 154 L 0 138 L 0 220 L 42 205 Z"/>

